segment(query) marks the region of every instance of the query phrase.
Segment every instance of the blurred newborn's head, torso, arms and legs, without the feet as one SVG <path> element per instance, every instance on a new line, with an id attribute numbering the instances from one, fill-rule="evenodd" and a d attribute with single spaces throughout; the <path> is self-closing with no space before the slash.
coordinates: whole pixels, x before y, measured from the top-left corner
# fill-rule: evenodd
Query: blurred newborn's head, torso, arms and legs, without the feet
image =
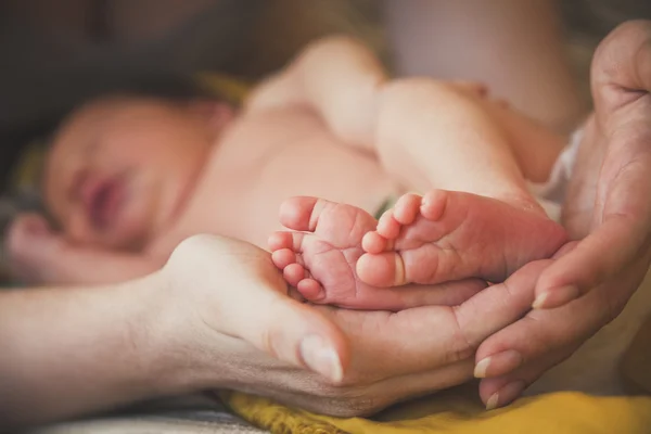
<path id="1" fill-rule="evenodd" d="M 95 283 L 152 271 L 195 233 L 263 246 L 281 229 L 276 216 L 282 201 L 303 194 L 374 213 L 406 189 L 436 187 L 542 215 L 524 179 L 545 180 L 563 145 L 561 137 L 486 98 L 476 85 L 387 81 L 370 51 L 347 38 L 308 47 L 256 88 L 235 117 L 218 103 L 131 102 L 97 101 L 62 127 L 46 193 L 68 242 L 55 242 L 49 230 L 39 243 L 27 242 L 27 227 L 44 225 L 36 217 L 29 225 L 18 220 L 9 241 L 17 267 L 48 282 Z M 540 151 L 524 153 L 533 142 Z M 118 212 L 98 224 L 97 194 L 84 201 L 71 191 L 93 191 L 78 173 L 101 184 L 115 178 L 112 171 L 128 176 L 117 177 Z M 461 171 L 467 175 L 457 176 Z"/>

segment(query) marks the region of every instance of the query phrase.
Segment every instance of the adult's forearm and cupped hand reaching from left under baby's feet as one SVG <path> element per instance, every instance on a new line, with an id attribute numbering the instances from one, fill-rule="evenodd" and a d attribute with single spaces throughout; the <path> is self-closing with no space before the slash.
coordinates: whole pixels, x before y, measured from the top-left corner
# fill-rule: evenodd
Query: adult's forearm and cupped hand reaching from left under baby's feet
<path id="1" fill-rule="evenodd" d="M 535 269 L 458 307 L 315 308 L 286 295 L 269 253 L 195 235 L 131 282 L 3 292 L 0 429 L 221 387 L 326 414 L 374 413 L 468 381 L 473 348 L 531 305 L 533 293 L 513 288 L 531 285 Z"/>

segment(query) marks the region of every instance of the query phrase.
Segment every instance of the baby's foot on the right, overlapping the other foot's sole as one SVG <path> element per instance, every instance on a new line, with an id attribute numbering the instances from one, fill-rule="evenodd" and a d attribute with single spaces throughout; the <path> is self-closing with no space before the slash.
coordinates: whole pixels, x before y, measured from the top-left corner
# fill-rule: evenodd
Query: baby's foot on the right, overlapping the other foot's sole
<path id="1" fill-rule="evenodd" d="M 470 276 L 503 281 L 566 242 L 544 213 L 475 194 L 406 194 L 362 240 L 357 273 L 374 286 L 437 283 Z"/>

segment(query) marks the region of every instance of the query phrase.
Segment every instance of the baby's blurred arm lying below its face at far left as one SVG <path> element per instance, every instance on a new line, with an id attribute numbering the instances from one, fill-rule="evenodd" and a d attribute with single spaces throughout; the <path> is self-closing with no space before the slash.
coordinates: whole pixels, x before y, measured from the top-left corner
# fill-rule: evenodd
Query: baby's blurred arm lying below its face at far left
<path id="1" fill-rule="evenodd" d="M 166 260 L 73 245 L 36 215 L 16 218 L 7 243 L 12 271 L 25 283 L 115 283 L 148 275 Z"/>

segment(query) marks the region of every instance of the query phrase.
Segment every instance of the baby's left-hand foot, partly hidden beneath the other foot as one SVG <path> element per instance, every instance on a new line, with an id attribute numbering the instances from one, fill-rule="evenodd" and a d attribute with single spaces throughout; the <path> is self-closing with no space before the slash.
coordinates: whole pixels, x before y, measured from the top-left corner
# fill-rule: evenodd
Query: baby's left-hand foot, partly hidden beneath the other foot
<path id="1" fill-rule="evenodd" d="M 271 234 L 273 264 L 308 301 L 347 308 L 400 310 L 424 305 L 458 305 L 485 288 L 478 279 L 435 286 L 379 289 L 361 281 L 356 264 L 361 240 L 376 220 L 363 209 L 315 197 L 292 197 L 280 221 L 293 231 Z M 296 231 L 296 232 L 294 232 Z"/>

